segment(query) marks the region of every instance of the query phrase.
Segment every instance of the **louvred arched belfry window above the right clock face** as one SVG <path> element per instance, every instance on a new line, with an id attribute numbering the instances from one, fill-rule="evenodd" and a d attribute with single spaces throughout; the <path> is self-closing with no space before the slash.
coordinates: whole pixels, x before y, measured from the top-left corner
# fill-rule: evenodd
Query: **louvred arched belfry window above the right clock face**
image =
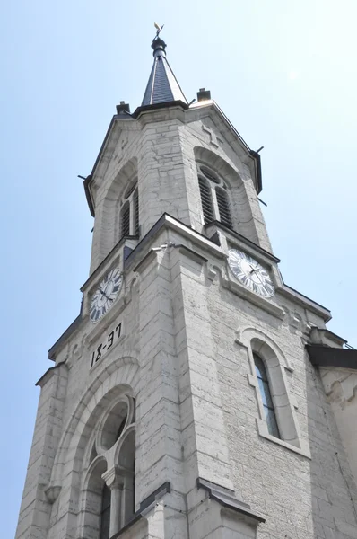
<path id="1" fill-rule="evenodd" d="M 220 221 L 232 227 L 230 199 L 227 186 L 215 172 L 205 166 L 198 166 L 198 185 L 205 225 Z"/>

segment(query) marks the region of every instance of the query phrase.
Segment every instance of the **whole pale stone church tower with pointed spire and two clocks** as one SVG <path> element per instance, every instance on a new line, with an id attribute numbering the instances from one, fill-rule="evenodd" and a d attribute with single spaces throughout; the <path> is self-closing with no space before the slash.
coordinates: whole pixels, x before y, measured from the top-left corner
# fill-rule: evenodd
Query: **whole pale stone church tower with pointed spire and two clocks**
<path id="1" fill-rule="evenodd" d="M 84 181 L 90 277 L 38 382 L 16 539 L 355 539 L 356 350 L 283 282 L 259 153 L 152 49 Z"/>

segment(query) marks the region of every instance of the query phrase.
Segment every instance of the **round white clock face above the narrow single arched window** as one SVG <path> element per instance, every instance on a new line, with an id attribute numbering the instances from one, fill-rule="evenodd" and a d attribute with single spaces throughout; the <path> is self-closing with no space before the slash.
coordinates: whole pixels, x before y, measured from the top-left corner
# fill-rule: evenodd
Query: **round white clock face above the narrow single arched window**
<path id="1" fill-rule="evenodd" d="M 235 278 L 259 296 L 274 296 L 274 285 L 268 272 L 245 252 L 230 249 L 228 263 Z"/>

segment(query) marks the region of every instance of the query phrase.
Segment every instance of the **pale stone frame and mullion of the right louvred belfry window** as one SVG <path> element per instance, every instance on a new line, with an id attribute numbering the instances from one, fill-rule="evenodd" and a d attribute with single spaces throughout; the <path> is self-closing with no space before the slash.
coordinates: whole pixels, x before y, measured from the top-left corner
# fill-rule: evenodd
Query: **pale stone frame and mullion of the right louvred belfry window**
<path id="1" fill-rule="evenodd" d="M 233 229 L 233 216 L 232 216 L 232 203 L 230 197 L 230 186 L 226 181 L 223 181 L 220 174 L 215 172 L 212 167 L 207 166 L 204 163 L 196 161 L 198 187 L 200 192 L 200 200 L 202 206 L 202 221 L 203 225 L 209 225 L 210 222 L 219 221 L 222 225 L 228 226 Z M 206 193 L 204 190 L 206 189 Z M 225 198 L 225 208 L 222 208 L 222 204 L 219 202 L 217 192 L 221 192 Z M 206 197 L 205 197 L 206 195 Z M 206 209 L 207 213 L 212 215 L 212 219 L 207 218 L 205 212 L 205 204 L 210 208 Z M 228 218 L 222 218 L 222 211 L 224 211 Z M 206 215 L 205 215 L 206 213 Z"/>

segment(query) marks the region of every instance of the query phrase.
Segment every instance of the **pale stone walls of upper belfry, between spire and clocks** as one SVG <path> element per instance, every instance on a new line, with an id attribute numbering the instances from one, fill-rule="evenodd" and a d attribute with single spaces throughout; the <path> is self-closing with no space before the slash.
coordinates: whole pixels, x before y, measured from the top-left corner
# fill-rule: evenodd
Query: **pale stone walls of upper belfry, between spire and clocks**
<path id="1" fill-rule="evenodd" d="M 140 237 L 164 212 L 203 232 L 197 164 L 211 167 L 230 187 L 237 232 L 271 251 L 257 200 L 254 160 L 214 102 L 200 102 L 188 110 L 172 107 L 143 112 L 138 119 L 113 120 L 89 187 L 95 208 L 91 272 L 120 239 L 119 201 L 135 177 Z"/>

